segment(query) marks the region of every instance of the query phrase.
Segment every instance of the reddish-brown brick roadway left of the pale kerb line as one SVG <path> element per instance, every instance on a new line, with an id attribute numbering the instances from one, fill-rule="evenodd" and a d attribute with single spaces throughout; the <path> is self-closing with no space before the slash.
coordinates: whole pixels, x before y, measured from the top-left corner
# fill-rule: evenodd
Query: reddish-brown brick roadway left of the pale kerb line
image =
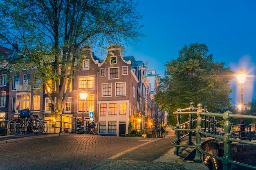
<path id="1" fill-rule="evenodd" d="M 0 170 L 88 170 L 157 139 L 63 134 L 11 140 L 0 145 Z"/>

